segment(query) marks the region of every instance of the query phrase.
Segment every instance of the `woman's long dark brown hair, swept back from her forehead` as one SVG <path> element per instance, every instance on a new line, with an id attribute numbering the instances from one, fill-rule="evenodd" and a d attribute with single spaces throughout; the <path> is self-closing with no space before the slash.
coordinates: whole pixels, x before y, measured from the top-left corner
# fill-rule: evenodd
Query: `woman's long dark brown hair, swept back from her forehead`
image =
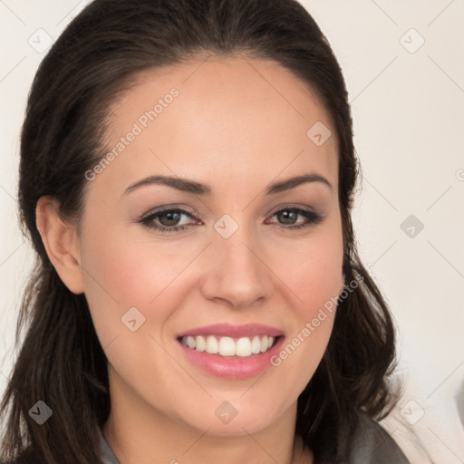
<path id="1" fill-rule="evenodd" d="M 19 205 L 37 263 L 0 409 L 6 461 L 23 455 L 32 462 L 30 455 L 48 464 L 100 462 L 96 427 L 110 412 L 106 357 L 85 296 L 63 285 L 45 253 L 35 207 L 51 195 L 63 218 L 78 223 L 84 173 L 105 153 L 111 102 L 141 71 L 202 53 L 279 63 L 317 94 L 336 131 L 343 274 L 346 283 L 360 276 L 362 282 L 338 302 L 327 350 L 298 399 L 296 433 L 316 461 L 326 456 L 338 462 L 348 456 L 362 411 L 375 419 L 390 411 L 394 328 L 356 250 L 351 208 L 359 163 L 351 111 L 341 69 L 314 19 L 295 0 L 95 0 L 53 44 L 27 102 Z M 43 425 L 28 413 L 36 401 L 53 410 Z"/>

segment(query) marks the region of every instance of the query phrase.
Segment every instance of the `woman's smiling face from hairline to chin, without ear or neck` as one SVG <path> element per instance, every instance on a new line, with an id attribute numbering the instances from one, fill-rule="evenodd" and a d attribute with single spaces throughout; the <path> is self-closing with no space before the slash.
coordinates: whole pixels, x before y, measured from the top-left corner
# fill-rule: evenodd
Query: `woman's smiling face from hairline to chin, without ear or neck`
<path id="1" fill-rule="evenodd" d="M 79 235 L 112 398 L 210 433 L 262 430 L 295 408 L 332 331 L 321 308 L 343 287 L 334 128 L 275 63 L 139 77 L 112 105 L 113 156 L 86 175 Z M 213 339 L 220 353 L 200 351 Z"/>

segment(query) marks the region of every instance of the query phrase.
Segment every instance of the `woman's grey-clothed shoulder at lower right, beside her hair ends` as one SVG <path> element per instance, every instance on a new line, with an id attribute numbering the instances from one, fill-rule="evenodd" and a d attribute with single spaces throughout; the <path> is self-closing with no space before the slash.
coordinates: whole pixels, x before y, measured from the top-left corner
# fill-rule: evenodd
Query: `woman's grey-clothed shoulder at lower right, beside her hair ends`
<path id="1" fill-rule="evenodd" d="M 382 426 L 368 415 L 360 417 L 350 462 L 363 464 L 410 464 L 401 448 Z"/>

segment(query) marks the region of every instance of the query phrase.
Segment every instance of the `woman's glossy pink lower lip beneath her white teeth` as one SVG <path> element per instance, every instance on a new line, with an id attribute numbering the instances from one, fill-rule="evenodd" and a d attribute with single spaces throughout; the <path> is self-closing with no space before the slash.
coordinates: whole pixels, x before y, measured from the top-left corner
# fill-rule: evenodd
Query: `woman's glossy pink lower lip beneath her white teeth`
<path id="1" fill-rule="evenodd" d="M 255 377 L 272 366 L 271 357 L 280 351 L 284 339 L 284 335 L 280 335 L 270 350 L 267 350 L 265 353 L 252 354 L 248 357 L 224 357 L 220 354 L 198 352 L 193 348 L 183 345 L 179 340 L 178 343 L 189 361 L 203 371 L 216 377 L 247 379 Z"/>

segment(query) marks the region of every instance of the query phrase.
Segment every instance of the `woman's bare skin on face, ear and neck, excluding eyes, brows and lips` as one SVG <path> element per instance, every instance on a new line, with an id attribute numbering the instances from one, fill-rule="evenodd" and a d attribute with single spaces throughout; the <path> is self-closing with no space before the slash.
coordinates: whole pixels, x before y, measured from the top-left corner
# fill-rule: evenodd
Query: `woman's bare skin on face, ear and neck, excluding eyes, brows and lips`
<path id="1" fill-rule="evenodd" d="M 108 147 L 173 87 L 179 96 L 87 183 L 80 228 L 58 216 L 54 198 L 37 204 L 47 253 L 65 285 L 85 294 L 108 358 L 104 436 L 121 464 L 310 463 L 311 451 L 295 440 L 296 401 L 321 361 L 334 314 L 278 367 L 250 379 L 200 371 L 176 335 L 206 324 L 261 323 L 283 330 L 289 343 L 339 295 L 337 141 L 316 146 L 306 136 L 316 121 L 335 131 L 314 92 L 278 64 L 198 58 L 140 74 L 112 104 Z M 270 183 L 307 172 L 332 189 L 311 182 L 264 195 Z M 214 194 L 150 185 L 123 195 L 155 174 L 194 179 Z M 165 206 L 191 212 L 177 223 L 189 227 L 160 234 L 137 221 Z M 290 207 L 324 218 L 278 228 L 307 222 L 275 214 Z M 214 228 L 225 214 L 238 225 L 227 239 Z M 121 324 L 132 306 L 145 316 L 135 332 Z M 215 414 L 223 401 L 237 410 L 227 424 Z"/>

